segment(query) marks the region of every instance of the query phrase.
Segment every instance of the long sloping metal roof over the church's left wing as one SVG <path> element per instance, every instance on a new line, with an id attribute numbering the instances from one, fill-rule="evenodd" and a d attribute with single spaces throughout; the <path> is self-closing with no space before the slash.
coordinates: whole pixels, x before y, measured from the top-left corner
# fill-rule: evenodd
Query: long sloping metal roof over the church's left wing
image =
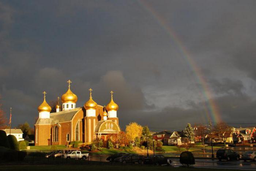
<path id="1" fill-rule="evenodd" d="M 59 123 L 65 121 L 71 121 L 74 115 L 81 109 L 81 107 L 72 109 L 72 110 L 64 110 L 56 113 L 50 113 L 50 118 L 38 118 L 37 124 L 52 124 Z"/>

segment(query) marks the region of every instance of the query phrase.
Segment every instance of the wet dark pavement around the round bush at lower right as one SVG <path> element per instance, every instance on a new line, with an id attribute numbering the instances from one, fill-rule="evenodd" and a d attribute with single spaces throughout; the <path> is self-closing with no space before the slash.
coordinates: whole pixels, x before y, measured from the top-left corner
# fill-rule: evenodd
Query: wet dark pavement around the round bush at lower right
<path id="1" fill-rule="evenodd" d="M 171 159 L 172 166 L 179 167 L 181 166 L 179 159 Z M 219 161 L 211 159 L 196 159 L 195 167 L 203 168 L 224 168 L 224 169 L 241 169 L 241 170 L 256 170 L 255 161 Z"/>

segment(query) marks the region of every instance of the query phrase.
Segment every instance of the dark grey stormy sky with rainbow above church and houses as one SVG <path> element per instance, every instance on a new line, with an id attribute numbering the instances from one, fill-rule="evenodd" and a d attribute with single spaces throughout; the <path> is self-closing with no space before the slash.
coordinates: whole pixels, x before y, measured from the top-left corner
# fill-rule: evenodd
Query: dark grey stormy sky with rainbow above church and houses
<path id="1" fill-rule="evenodd" d="M 71 90 L 120 126 L 256 126 L 255 0 L 0 1 L 0 103 L 12 125 Z"/>

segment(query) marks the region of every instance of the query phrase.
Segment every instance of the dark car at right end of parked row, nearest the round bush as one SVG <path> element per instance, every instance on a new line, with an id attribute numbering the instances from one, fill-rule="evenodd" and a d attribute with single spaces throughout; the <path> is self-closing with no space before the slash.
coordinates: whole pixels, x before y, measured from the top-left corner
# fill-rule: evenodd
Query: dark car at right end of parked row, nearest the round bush
<path id="1" fill-rule="evenodd" d="M 169 158 L 166 158 L 163 155 L 151 155 L 149 157 L 145 157 L 143 160 L 144 164 L 155 164 L 155 165 L 170 165 L 172 161 Z"/>

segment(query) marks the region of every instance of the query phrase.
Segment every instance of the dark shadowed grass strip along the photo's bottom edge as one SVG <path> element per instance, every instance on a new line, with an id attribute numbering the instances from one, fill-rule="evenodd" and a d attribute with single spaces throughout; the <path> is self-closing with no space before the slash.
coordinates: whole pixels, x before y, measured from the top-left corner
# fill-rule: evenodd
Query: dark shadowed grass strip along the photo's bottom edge
<path id="1" fill-rule="evenodd" d="M 33 166 L 1 166 L 1 170 L 4 171 L 23 171 L 23 170 L 35 170 L 35 171 L 73 171 L 73 170 L 93 170 L 93 171 L 226 171 L 225 169 L 215 168 L 184 168 L 184 167 L 170 167 L 170 166 L 93 166 L 93 165 L 33 165 Z M 241 171 L 241 170 L 233 170 Z"/>

